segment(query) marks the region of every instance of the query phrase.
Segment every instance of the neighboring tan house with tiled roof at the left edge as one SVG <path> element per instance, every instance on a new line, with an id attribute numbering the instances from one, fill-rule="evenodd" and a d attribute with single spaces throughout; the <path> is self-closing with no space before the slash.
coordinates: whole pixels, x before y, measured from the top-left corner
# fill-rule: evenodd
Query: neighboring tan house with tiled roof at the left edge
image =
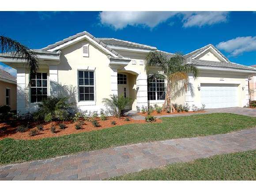
<path id="1" fill-rule="evenodd" d="M 17 98 L 16 78 L 0 69 L 0 106 L 8 105 L 11 111 L 16 110 Z"/>

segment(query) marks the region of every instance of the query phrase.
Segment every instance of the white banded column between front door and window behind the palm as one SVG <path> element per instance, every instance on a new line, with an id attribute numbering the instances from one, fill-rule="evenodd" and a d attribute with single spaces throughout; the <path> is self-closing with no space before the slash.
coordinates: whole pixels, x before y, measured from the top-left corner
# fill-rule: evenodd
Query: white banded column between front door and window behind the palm
<path id="1" fill-rule="evenodd" d="M 136 78 L 136 106 L 147 107 L 147 74 L 139 74 Z"/>

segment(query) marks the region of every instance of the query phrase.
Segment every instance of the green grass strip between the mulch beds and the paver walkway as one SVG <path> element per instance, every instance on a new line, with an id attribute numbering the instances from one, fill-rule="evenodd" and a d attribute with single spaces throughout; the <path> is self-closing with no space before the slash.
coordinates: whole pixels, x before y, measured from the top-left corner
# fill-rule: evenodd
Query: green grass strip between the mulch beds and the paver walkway
<path id="1" fill-rule="evenodd" d="M 228 133 L 256 126 L 256 118 L 227 113 L 162 118 L 162 123 L 114 126 L 40 140 L 0 140 L 0 164 L 46 159 L 125 144 Z"/>

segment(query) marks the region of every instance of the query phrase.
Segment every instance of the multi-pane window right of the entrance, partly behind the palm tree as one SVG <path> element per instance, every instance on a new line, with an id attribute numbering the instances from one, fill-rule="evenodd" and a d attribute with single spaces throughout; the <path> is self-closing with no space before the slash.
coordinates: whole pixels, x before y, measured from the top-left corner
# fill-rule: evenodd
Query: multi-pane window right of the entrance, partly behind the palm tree
<path id="1" fill-rule="evenodd" d="M 147 79 L 147 100 L 165 100 L 165 79 L 148 78 Z"/>

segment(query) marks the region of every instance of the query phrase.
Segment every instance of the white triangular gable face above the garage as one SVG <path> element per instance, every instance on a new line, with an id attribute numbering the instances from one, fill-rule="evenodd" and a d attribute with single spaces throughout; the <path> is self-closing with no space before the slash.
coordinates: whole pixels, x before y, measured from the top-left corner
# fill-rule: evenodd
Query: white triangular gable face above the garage
<path id="1" fill-rule="evenodd" d="M 192 59 L 200 59 L 200 60 L 216 61 L 216 62 L 227 62 L 226 58 L 224 58 L 221 54 L 219 54 L 212 47 L 209 47 L 209 48 L 205 49 L 203 52 L 196 55 Z"/>

